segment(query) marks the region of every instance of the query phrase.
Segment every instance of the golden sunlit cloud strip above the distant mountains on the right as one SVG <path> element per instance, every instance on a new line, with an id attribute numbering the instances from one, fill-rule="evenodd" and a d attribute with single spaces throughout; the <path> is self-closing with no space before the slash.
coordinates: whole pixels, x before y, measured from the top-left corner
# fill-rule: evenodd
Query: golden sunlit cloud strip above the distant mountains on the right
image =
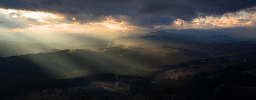
<path id="1" fill-rule="evenodd" d="M 255 12 L 245 10 L 236 13 L 226 13 L 222 16 L 198 17 L 191 22 L 177 19 L 172 25 L 156 25 L 154 29 L 212 29 L 212 28 L 231 28 L 237 26 L 255 26 Z"/>

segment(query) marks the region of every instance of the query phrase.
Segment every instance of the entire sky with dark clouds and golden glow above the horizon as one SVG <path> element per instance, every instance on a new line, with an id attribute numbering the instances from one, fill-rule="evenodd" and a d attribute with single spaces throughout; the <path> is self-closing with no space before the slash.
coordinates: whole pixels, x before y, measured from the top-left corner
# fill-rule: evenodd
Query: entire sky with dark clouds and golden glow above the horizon
<path id="1" fill-rule="evenodd" d="M 256 26 L 255 0 L 0 0 L 0 33 L 127 34 L 238 26 Z"/>

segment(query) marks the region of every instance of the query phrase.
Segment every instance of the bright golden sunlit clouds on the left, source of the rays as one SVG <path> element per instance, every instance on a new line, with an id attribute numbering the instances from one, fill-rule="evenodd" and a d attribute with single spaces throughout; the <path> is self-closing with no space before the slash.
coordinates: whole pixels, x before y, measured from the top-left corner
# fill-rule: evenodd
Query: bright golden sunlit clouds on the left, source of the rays
<path id="1" fill-rule="evenodd" d="M 73 21 L 68 21 L 65 16 L 60 14 L 53 14 L 47 12 L 33 12 L 33 11 L 22 11 L 22 10 L 6 10 L 0 8 L 0 13 L 13 18 L 24 19 L 27 21 L 29 27 L 25 29 L 16 28 L 10 29 L 10 32 L 65 32 L 65 33 L 87 33 L 87 32 L 106 32 L 106 31 L 127 31 L 134 30 L 134 26 L 127 25 L 126 22 L 117 22 L 111 16 L 106 17 L 106 20 L 102 22 L 94 23 L 79 23 L 75 17 Z M 28 21 L 29 19 L 29 21 Z M 61 22 L 60 22 L 61 21 Z M 118 33 L 119 33 L 118 32 Z"/>

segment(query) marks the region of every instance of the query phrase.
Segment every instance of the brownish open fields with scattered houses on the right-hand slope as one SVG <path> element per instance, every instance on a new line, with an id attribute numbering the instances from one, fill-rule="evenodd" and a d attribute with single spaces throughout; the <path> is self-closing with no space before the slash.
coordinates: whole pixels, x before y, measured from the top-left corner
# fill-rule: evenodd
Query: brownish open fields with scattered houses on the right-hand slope
<path id="1" fill-rule="evenodd" d="M 194 76 L 199 73 L 212 72 L 212 71 L 219 70 L 222 68 L 238 66 L 240 63 L 253 63 L 253 61 L 255 61 L 254 59 L 249 60 L 249 61 L 248 60 L 240 61 L 240 60 L 241 59 L 239 59 L 238 61 L 228 60 L 226 62 L 220 62 L 220 61 L 216 60 L 216 61 L 204 62 L 204 63 L 197 64 L 197 65 L 188 65 L 183 68 L 168 69 L 168 70 L 165 70 L 165 71 L 157 74 L 153 79 L 155 79 L 155 80 L 164 79 L 164 78 L 178 79 L 179 76 L 181 76 L 181 77 L 186 77 L 186 75 Z M 254 76 L 256 75 L 255 74 L 256 69 L 253 66 L 247 66 L 247 70 L 250 70 L 250 71 L 243 71 L 242 73 L 244 75 L 246 75 L 246 74 L 254 75 Z"/>

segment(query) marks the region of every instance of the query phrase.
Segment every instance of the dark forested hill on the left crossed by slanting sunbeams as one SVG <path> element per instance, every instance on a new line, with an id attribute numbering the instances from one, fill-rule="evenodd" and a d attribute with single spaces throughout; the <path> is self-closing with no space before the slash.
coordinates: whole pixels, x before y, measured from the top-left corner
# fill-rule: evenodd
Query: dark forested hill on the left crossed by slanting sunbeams
<path id="1" fill-rule="evenodd" d="M 119 61 L 117 61 L 119 60 Z M 0 58 L 2 79 L 37 80 L 42 78 L 74 77 L 75 72 L 86 75 L 85 70 L 118 72 L 129 70 L 121 59 L 88 50 L 62 50 L 49 53 L 26 54 Z M 82 70 L 82 71 L 81 71 Z M 84 72 L 83 72 L 84 70 Z"/>

